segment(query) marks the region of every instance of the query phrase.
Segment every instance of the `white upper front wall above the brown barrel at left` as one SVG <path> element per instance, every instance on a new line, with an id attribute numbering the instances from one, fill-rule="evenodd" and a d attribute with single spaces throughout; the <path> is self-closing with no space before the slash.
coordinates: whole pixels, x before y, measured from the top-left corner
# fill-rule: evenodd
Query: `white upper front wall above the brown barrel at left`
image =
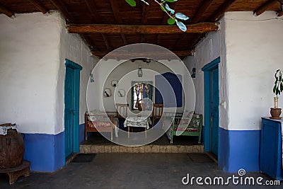
<path id="1" fill-rule="evenodd" d="M 59 57 L 58 13 L 0 15 L 0 123 L 54 133 Z"/>

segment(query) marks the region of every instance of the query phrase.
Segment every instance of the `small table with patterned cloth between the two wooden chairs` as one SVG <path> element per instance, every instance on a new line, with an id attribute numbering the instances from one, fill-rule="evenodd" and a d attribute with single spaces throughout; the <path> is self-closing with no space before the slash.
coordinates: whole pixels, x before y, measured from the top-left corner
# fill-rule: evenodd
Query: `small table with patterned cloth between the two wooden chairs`
<path id="1" fill-rule="evenodd" d="M 151 124 L 151 120 L 149 117 L 127 117 L 124 122 L 124 127 L 128 127 L 128 138 L 129 127 L 144 127 L 146 135 L 146 130 L 149 130 L 149 124 Z"/>

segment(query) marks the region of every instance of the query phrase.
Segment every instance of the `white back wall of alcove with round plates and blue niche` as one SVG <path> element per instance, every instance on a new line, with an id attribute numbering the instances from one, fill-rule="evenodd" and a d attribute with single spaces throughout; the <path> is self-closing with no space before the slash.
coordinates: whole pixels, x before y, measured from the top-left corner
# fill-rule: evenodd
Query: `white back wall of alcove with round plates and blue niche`
<path id="1" fill-rule="evenodd" d="M 162 62 L 162 64 L 158 62 L 151 62 L 149 65 L 141 61 L 124 62 L 123 60 L 117 61 L 115 59 L 108 59 L 108 60 L 102 59 L 100 61 L 101 62 L 96 65 L 96 68 L 93 71 L 95 82 L 91 83 L 88 86 L 87 96 L 88 96 L 89 110 L 104 110 L 105 108 L 106 111 L 116 111 L 115 103 L 131 104 L 131 98 L 129 98 L 131 94 L 130 91 L 128 98 L 126 98 L 127 96 L 125 96 L 125 98 L 120 98 L 117 97 L 118 89 L 124 89 L 125 92 L 127 93 L 129 88 L 131 87 L 131 81 L 153 81 L 153 84 L 155 84 L 154 76 L 158 73 L 163 74 L 165 72 L 171 71 L 171 68 L 173 68 L 173 72 L 175 72 L 175 74 L 180 74 L 183 76 L 184 86 L 192 86 L 192 84 L 190 84 L 190 81 L 188 81 L 187 79 L 186 67 L 182 62 L 179 61 L 175 62 L 175 61 L 161 60 L 160 62 Z M 122 63 L 112 71 L 113 67 L 117 66 L 121 62 L 124 63 Z M 143 69 L 142 77 L 137 76 L 137 69 L 139 65 L 141 65 Z M 148 71 L 146 71 L 146 69 L 148 69 Z M 111 86 L 112 80 L 120 81 L 117 87 Z M 110 88 L 112 91 L 112 96 L 110 97 L 103 96 L 102 93 L 103 88 Z M 185 87 L 186 93 L 191 92 L 188 91 L 189 89 Z M 195 98 L 195 94 L 187 96 L 187 102 L 191 101 L 189 100 L 191 98 Z M 153 101 L 154 101 L 154 94 L 153 94 Z M 178 111 L 182 111 L 183 109 L 184 107 L 178 108 Z"/>

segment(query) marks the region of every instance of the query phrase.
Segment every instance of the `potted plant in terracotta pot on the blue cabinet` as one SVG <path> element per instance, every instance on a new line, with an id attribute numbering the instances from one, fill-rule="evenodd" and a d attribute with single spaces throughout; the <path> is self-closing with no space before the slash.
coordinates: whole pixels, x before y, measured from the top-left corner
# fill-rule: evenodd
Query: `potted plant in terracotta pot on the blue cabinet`
<path id="1" fill-rule="evenodd" d="M 270 114 L 272 118 L 279 118 L 281 114 L 281 108 L 278 108 L 278 95 L 280 95 L 283 91 L 283 77 L 282 70 L 277 69 L 275 73 L 275 86 L 273 87 L 273 93 L 275 93 L 276 97 L 274 98 L 274 108 L 270 108 Z"/>

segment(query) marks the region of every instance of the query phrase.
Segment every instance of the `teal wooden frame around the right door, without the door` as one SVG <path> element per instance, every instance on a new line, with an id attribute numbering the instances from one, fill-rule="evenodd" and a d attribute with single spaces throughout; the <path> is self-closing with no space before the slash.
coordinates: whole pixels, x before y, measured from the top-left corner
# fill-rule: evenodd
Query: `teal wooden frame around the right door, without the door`
<path id="1" fill-rule="evenodd" d="M 218 69 L 219 63 L 220 63 L 220 57 L 214 59 L 212 62 L 210 62 L 209 64 L 205 65 L 202 68 L 202 71 L 204 71 L 204 124 L 205 124 L 204 151 L 212 151 L 212 131 L 211 131 L 212 70 Z M 218 86 L 218 101 L 219 101 L 219 86 Z M 219 123 L 219 117 L 218 117 L 218 123 Z M 218 152 L 219 152 L 219 148 L 218 148 Z"/>

